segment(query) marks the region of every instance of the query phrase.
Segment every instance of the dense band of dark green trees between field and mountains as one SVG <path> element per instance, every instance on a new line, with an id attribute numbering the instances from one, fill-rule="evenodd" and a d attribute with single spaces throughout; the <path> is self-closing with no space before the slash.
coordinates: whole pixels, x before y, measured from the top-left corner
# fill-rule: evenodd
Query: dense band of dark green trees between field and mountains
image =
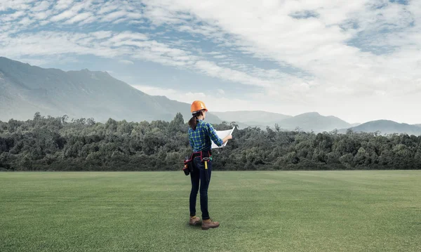
<path id="1" fill-rule="evenodd" d="M 238 128 L 213 150 L 213 169 L 419 169 L 421 135 Z M 181 171 L 192 153 L 182 114 L 172 121 L 44 117 L 0 121 L 0 171 Z"/>

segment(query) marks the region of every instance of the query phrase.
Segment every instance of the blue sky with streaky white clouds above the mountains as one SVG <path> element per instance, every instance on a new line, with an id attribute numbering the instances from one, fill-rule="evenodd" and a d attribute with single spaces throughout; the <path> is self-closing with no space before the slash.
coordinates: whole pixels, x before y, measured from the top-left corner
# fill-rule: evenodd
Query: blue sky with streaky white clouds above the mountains
<path id="1" fill-rule="evenodd" d="M 211 111 L 421 124 L 420 0 L 0 0 L 0 56 Z"/>

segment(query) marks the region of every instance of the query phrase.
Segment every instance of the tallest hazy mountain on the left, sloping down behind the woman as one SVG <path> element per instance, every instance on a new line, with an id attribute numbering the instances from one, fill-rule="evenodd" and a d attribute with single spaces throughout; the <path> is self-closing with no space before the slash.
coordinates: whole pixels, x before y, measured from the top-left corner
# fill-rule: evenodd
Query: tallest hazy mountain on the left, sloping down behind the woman
<path id="1" fill-rule="evenodd" d="M 64 72 L 0 57 L 0 120 L 32 119 L 36 112 L 52 117 L 107 121 L 171 121 L 181 112 L 192 117 L 185 102 L 154 97 L 119 81 L 108 72 L 89 69 Z M 208 114 L 211 123 L 221 120 Z"/>

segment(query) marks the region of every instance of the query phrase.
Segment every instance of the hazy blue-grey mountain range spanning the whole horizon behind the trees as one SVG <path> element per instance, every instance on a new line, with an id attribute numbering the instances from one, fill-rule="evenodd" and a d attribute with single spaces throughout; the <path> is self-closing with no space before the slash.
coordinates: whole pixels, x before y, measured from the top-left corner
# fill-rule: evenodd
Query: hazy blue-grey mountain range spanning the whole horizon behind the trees
<path id="1" fill-rule="evenodd" d="M 185 121 L 192 117 L 188 103 L 162 95 L 148 95 L 107 72 L 88 69 L 65 72 L 0 57 L 0 120 L 32 119 L 36 112 L 52 117 L 67 114 L 71 119 L 92 117 L 102 122 L 109 118 L 171 121 L 178 112 Z M 388 120 L 349 124 L 338 117 L 326 117 L 317 112 L 295 117 L 265 111 L 208 112 L 206 120 L 213 124 L 235 121 L 241 128 L 274 128 L 277 124 L 282 130 L 300 128 L 322 132 L 338 129 L 345 132 L 352 128 L 353 131 L 421 135 L 421 124 L 398 124 Z"/>

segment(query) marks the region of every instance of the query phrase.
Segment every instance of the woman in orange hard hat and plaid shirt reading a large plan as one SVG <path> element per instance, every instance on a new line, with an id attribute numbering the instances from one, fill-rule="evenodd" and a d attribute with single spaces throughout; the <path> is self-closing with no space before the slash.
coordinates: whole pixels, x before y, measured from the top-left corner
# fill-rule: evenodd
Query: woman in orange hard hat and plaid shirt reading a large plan
<path id="1" fill-rule="evenodd" d="M 189 120 L 189 142 L 193 148 L 194 168 L 190 174 L 192 179 L 192 192 L 190 192 L 190 225 L 199 223 L 200 218 L 196 217 L 196 198 L 199 191 L 200 184 L 200 207 L 202 213 L 202 230 L 219 227 L 218 222 L 210 219 L 208 212 L 208 186 L 210 182 L 210 174 L 212 173 L 212 157 L 210 157 L 210 150 L 212 142 L 215 145 L 221 146 L 227 140 L 232 139 L 232 135 L 228 135 L 224 139 L 220 139 L 216 134 L 213 126 L 205 121 L 206 106 L 200 100 L 195 100 L 191 107 L 192 119 Z M 204 158 L 203 158 L 204 157 Z M 209 158 L 206 158 L 209 157 Z"/>

